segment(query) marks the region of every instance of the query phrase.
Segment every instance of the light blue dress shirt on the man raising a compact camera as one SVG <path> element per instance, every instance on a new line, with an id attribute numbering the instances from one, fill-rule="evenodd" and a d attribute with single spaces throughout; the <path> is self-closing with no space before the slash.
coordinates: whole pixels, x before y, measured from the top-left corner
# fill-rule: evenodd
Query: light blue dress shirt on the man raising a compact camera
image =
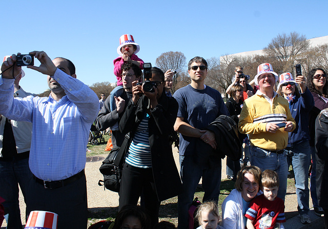
<path id="1" fill-rule="evenodd" d="M 14 79 L 0 77 L 0 114 L 33 123 L 29 165 L 42 180 L 61 180 L 85 168 L 97 95 L 83 82 L 57 69 L 52 76 L 65 90 L 58 102 L 47 97 L 14 98 Z"/>

